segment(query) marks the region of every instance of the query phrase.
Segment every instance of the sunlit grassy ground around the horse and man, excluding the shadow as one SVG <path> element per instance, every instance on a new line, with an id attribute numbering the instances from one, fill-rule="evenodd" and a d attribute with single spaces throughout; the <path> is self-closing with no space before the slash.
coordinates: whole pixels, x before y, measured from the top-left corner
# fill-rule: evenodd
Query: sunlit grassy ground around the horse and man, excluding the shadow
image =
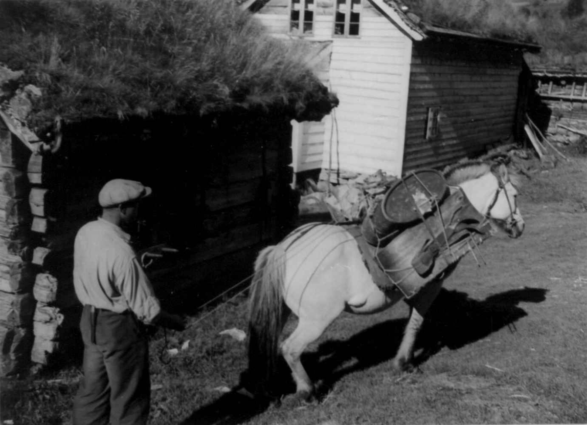
<path id="1" fill-rule="evenodd" d="M 521 239 L 495 237 L 481 247 L 487 266 L 467 256 L 445 285 L 420 338 L 431 355 L 421 373 L 400 375 L 391 359 L 405 323 L 404 304 L 377 315 L 343 315 L 306 355 L 325 395 L 302 406 L 247 411 L 218 387 L 238 383 L 244 344 L 222 329 L 245 329 L 245 306 L 234 302 L 168 348 L 190 347 L 168 364 L 163 334 L 151 343 L 152 420 L 185 423 L 586 423 L 587 158 L 537 172 L 520 199 Z M 244 301 L 244 300 L 240 300 Z M 60 424 L 69 415 L 77 369 L 48 379 L 2 383 L 2 420 Z M 21 388 L 21 390 L 18 390 Z M 11 400 L 6 390 L 12 393 Z M 228 421 L 241 414 L 241 420 Z"/>

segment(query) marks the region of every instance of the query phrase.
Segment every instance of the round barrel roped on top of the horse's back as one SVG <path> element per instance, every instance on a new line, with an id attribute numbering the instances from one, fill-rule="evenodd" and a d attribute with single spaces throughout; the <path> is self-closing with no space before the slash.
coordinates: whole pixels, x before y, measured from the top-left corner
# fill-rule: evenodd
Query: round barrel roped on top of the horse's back
<path id="1" fill-rule="evenodd" d="M 410 172 L 389 188 L 373 215 L 363 220 L 363 236 L 373 246 L 389 243 L 396 234 L 433 213 L 448 192 L 448 185 L 438 171 Z"/>

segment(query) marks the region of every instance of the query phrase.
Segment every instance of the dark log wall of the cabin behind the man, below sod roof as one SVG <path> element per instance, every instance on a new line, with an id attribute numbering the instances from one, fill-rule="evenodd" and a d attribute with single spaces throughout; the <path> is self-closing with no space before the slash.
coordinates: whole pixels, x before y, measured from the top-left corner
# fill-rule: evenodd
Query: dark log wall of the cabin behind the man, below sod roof
<path id="1" fill-rule="evenodd" d="M 9 217 L 8 205 L 23 206 L 0 241 L 0 342 L 6 359 L 18 353 L 24 363 L 48 365 L 76 352 L 75 344 L 79 349 L 73 241 L 100 214 L 97 194 L 110 179 L 135 179 L 153 188 L 141 204 L 145 222 L 134 243 L 137 250 L 159 243 L 179 250 L 147 271 L 157 295 L 168 300 L 164 307 L 174 311 L 193 309 L 202 301 L 198 297 L 247 277 L 258 248 L 288 232 L 295 211 L 289 197 L 289 122 L 234 114 L 219 117 L 216 126 L 192 121 L 71 124 L 56 154 L 24 149 L 14 164 L 21 169 L 2 163 L 5 181 L 18 182 L 2 186 L 2 211 Z M 7 140 L 22 147 L 4 130 L 2 161 Z"/>

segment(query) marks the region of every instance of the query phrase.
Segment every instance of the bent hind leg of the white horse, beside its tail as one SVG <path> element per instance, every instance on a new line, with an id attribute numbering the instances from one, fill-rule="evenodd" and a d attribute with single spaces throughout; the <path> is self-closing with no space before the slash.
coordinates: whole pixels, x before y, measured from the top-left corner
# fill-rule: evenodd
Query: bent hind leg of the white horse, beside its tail
<path id="1" fill-rule="evenodd" d="M 340 314 L 340 312 L 342 312 L 342 309 L 338 314 Z M 338 314 L 326 320 L 309 320 L 300 318 L 295 331 L 289 335 L 281 346 L 281 352 L 284 355 L 285 361 L 292 370 L 292 376 L 294 377 L 296 384 L 296 395 L 303 399 L 311 398 L 314 386 L 308 373 L 306 373 L 306 370 L 302 366 L 300 357 L 306 347 L 322 335 Z"/>

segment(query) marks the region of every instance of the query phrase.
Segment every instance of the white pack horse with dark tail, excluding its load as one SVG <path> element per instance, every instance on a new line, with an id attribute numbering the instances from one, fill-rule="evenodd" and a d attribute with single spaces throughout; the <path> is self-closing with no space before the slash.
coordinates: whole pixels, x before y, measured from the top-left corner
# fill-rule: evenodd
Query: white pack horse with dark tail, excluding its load
<path id="1" fill-rule="evenodd" d="M 448 184 L 460 186 L 474 208 L 510 237 L 522 234 L 524 220 L 516 202 L 516 177 L 504 165 L 497 169 L 481 162 L 457 165 L 445 173 L 445 178 Z M 259 395 L 271 392 L 278 340 L 290 312 L 299 321 L 281 345 L 281 353 L 291 368 L 296 396 L 308 399 L 314 386 L 300 361 L 308 344 L 318 339 L 343 311 L 374 313 L 403 298 L 399 290 L 384 292 L 377 287 L 355 238 L 345 229 L 318 224 L 306 225 L 301 230 L 292 232 L 275 246 L 266 247 L 255 261 L 249 295 L 248 378 L 252 381 L 250 389 Z M 406 300 L 410 319 L 393 360 L 394 368 L 411 367 L 416 335 L 446 274 Z"/>

